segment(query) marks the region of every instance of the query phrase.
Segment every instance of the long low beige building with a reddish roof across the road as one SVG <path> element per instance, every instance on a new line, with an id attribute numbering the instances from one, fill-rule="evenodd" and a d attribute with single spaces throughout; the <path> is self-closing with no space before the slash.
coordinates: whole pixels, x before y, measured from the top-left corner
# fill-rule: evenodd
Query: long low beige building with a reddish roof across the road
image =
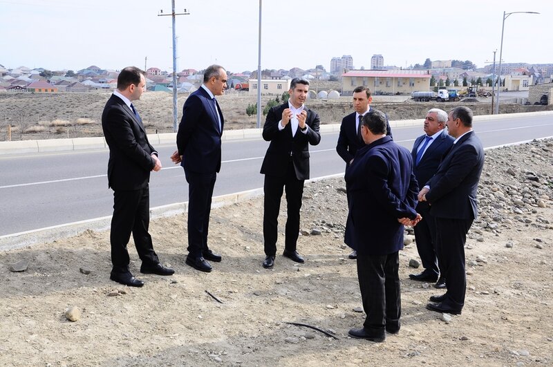
<path id="1" fill-rule="evenodd" d="M 342 95 L 353 95 L 357 86 L 366 86 L 373 94 L 409 94 L 429 91 L 431 75 L 427 70 L 350 70 L 341 77 Z"/>

